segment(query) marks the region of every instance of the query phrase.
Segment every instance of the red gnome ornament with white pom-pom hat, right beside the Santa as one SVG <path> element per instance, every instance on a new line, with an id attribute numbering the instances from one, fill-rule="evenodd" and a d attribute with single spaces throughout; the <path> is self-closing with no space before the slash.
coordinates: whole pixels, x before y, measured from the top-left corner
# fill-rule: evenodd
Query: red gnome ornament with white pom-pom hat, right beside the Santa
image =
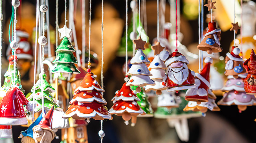
<path id="1" fill-rule="evenodd" d="M 208 102 L 208 90 L 211 86 L 210 80 L 210 66 L 212 63 L 211 57 L 206 57 L 204 59 L 204 68 L 200 71 L 200 73 L 195 73 L 195 84 L 196 87 L 193 89 L 189 89 L 186 92 L 186 100 L 187 101 L 196 101 L 197 104 L 201 102 Z"/>

